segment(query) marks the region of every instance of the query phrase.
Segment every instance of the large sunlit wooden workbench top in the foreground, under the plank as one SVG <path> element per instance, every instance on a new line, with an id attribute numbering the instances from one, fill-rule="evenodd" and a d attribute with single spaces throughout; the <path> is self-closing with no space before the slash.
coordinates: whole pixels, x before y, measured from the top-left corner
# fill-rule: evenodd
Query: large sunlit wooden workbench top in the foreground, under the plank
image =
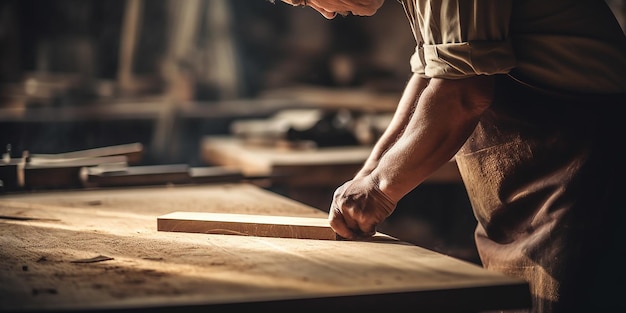
<path id="1" fill-rule="evenodd" d="M 158 232 L 157 216 L 173 211 L 326 215 L 245 184 L 3 195 L 0 311 L 472 312 L 528 305 L 523 281 L 390 237 Z"/>

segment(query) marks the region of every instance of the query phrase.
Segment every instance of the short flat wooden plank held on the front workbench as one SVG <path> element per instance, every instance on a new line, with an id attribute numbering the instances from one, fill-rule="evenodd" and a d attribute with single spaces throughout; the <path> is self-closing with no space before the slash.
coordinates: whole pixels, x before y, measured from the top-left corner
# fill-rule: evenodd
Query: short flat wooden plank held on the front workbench
<path id="1" fill-rule="evenodd" d="M 335 240 L 326 218 L 173 212 L 157 218 L 157 230 L 203 234 Z"/>

